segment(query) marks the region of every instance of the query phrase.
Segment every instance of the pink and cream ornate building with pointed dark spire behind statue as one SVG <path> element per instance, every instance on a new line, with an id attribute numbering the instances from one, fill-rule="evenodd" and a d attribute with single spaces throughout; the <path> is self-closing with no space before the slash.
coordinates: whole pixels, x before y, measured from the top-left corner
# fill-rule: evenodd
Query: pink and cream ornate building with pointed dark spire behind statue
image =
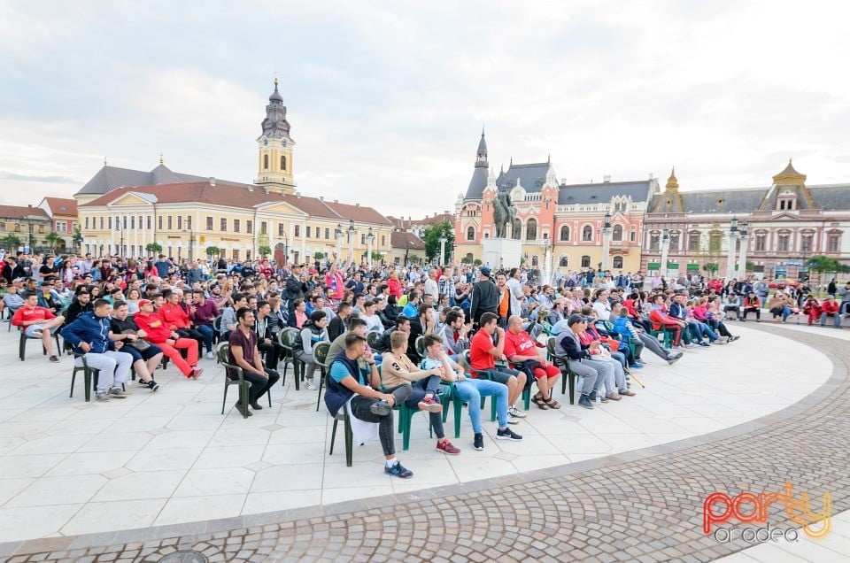
<path id="1" fill-rule="evenodd" d="M 524 264 L 545 268 L 548 255 L 553 257 L 552 266 L 564 274 L 602 264 L 607 216 L 611 225 L 608 269 L 637 272 L 646 206 L 660 193 L 653 178 L 611 181 L 606 177 L 599 183 L 568 185 L 558 181 L 551 159 L 534 164 L 512 160 L 507 170 L 495 174 L 482 132 L 472 180 L 455 205 L 457 258 L 482 257 L 482 240 L 495 234 L 493 200 L 499 190 L 507 190 L 516 207 L 507 236 L 522 241 Z"/>

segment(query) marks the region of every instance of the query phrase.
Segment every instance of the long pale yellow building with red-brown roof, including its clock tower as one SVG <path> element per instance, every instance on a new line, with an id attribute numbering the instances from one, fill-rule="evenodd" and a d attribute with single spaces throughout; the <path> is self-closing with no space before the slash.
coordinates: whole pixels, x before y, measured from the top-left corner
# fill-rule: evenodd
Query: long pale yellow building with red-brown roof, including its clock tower
<path id="1" fill-rule="evenodd" d="M 390 251 L 393 224 L 375 209 L 295 191 L 286 107 L 274 81 L 258 143 L 255 184 L 171 171 L 160 158 L 151 172 L 106 166 L 74 195 L 82 251 L 140 258 L 158 243 L 174 258 L 257 258 L 267 247 L 277 261 L 304 262 L 319 253 Z"/>

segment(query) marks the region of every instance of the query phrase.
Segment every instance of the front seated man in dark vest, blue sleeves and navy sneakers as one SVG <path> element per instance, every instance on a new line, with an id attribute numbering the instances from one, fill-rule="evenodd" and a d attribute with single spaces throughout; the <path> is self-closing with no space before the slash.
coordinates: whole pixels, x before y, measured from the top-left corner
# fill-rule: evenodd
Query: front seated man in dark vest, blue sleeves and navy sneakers
<path id="1" fill-rule="evenodd" d="M 359 360 L 366 362 L 359 366 Z M 352 419 L 378 424 L 383 455 L 386 459 L 383 473 L 409 479 L 413 471 L 402 466 L 396 459 L 395 434 L 392 405 L 406 401 L 412 389 L 406 385 L 397 387 L 392 393 L 376 390 L 381 386 L 381 376 L 375 366 L 372 352 L 367 351 L 366 337 L 349 332 L 345 335 L 345 350 L 336 354 L 330 366 L 325 405 L 331 416 L 336 416 L 343 405 L 348 404 Z M 352 424 L 354 426 L 354 424 Z M 357 442 L 355 437 L 355 442 Z"/>

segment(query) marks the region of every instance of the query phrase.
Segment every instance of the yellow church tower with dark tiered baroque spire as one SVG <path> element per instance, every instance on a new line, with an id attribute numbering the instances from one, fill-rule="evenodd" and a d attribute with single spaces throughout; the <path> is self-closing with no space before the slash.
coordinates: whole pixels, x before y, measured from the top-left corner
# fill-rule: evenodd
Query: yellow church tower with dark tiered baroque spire
<path id="1" fill-rule="evenodd" d="M 286 120 L 286 106 L 277 91 L 276 78 L 274 92 L 268 97 L 266 119 L 262 127 L 263 135 L 257 139 L 259 160 L 255 183 L 265 189 L 291 194 L 295 192 L 296 186 L 292 179 L 292 150 L 295 142 L 290 138 L 290 122 Z"/>

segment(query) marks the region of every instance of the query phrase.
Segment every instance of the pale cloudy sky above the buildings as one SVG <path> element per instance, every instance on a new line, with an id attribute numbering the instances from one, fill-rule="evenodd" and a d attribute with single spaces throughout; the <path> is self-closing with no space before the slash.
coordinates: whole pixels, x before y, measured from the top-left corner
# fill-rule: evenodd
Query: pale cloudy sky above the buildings
<path id="1" fill-rule="evenodd" d="M 0 204 L 103 166 L 252 181 L 274 77 L 301 193 L 453 209 L 490 163 L 567 183 L 850 182 L 843 2 L 0 3 Z"/>

